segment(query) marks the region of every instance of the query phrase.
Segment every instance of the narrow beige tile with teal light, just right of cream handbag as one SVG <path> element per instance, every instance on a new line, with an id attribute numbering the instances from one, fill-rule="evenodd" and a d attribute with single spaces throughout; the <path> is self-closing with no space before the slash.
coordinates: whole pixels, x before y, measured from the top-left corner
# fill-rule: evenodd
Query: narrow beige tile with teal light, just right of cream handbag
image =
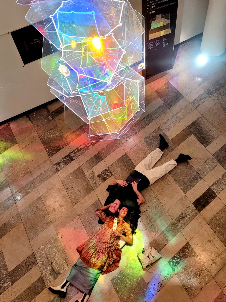
<path id="1" fill-rule="evenodd" d="M 164 248 L 162 253 L 167 261 L 169 261 L 180 249 L 187 243 L 187 239 L 180 232 L 174 237 Z"/>

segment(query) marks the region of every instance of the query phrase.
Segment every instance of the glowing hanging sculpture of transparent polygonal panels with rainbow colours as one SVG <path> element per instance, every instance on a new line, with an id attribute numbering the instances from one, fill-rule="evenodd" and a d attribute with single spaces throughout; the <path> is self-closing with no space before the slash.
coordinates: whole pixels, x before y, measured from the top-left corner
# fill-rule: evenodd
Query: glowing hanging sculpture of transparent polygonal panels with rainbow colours
<path id="1" fill-rule="evenodd" d="M 49 40 L 42 69 L 70 110 L 65 121 L 74 129 L 80 117 L 90 140 L 121 138 L 145 111 L 144 17 L 127 0 L 17 2 L 31 5 L 26 19 Z"/>

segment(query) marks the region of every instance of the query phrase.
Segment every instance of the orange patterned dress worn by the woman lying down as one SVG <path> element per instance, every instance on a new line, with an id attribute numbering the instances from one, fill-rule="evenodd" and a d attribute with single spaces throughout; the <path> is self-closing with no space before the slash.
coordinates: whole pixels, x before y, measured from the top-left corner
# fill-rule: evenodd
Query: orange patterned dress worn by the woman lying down
<path id="1" fill-rule="evenodd" d="M 80 259 L 89 267 L 102 274 L 107 274 L 119 267 L 121 259 L 121 249 L 119 249 L 120 237 L 113 234 L 114 217 L 106 217 L 105 213 L 99 209 L 96 214 L 104 221 L 103 226 L 96 234 L 81 244 L 77 251 Z M 124 220 L 119 221 L 117 230 L 127 238 L 133 239 L 130 225 Z"/>

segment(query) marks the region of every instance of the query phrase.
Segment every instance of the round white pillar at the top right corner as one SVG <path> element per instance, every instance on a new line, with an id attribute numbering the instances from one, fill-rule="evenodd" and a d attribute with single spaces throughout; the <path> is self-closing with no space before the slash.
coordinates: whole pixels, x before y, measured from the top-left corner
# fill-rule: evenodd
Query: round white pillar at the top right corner
<path id="1" fill-rule="evenodd" d="M 226 0 L 209 0 L 201 52 L 220 56 L 226 48 Z"/>

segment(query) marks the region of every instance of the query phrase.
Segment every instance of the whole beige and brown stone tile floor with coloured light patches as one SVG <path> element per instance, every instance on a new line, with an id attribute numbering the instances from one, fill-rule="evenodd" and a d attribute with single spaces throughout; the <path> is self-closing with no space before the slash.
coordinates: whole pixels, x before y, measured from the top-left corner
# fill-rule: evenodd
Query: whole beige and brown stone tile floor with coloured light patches
<path id="1" fill-rule="evenodd" d="M 160 163 L 192 156 L 143 191 L 142 220 L 120 268 L 90 302 L 226 301 L 226 54 L 195 63 L 200 38 L 176 47 L 174 68 L 146 85 L 146 112 L 121 140 L 87 143 L 87 127 L 54 101 L 0 125 L 0 301 L 73 302 L 51 294 L 99 228 L 95 210 L 165 133 Z M 160 163 L 157 163 L 159 165 Z M 137 252 L 162 259 L 143 271 Z"/>

